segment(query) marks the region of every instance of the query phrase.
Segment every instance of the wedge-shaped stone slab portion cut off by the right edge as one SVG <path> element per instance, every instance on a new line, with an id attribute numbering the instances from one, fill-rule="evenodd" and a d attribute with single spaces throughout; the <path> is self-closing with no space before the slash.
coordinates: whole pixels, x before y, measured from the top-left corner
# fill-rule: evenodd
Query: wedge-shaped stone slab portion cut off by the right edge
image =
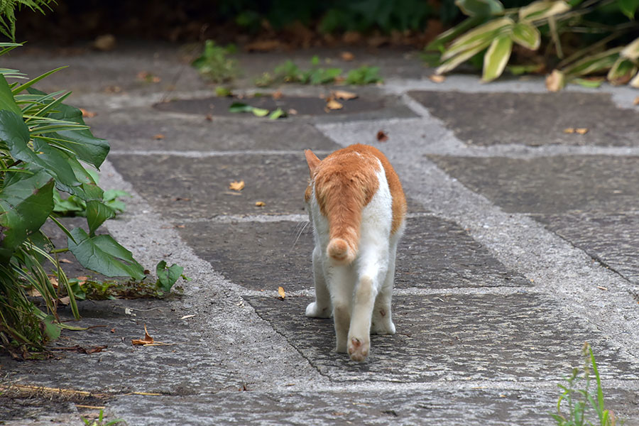
<path id="1" fill-rule="evenodd" d="M 535 215 L 535 219 L 608 268 L 639 283 L 638 212 L 589 211 Z"/>

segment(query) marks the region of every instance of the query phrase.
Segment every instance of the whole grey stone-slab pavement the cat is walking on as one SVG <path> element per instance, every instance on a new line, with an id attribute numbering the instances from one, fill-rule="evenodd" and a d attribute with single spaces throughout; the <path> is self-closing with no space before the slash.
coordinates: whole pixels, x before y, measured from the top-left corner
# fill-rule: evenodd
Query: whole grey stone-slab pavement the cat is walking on
<path id="1" fill-rule="evenodd" d="M 102 185 L 133 199 L 106 231 L 146 268 L 164 258 L 192 280 L 178 300 L 82 302 L 81 324 L 99 327 L 52 345 L 105 351 L 0 358 L 5 380 L 94 393 L 0 399 L 0 424 L 82 425 L 93 405 L 127 425 L 552 425 L 557 383 L 589 342 L 608 408 L 639 425 L 636 90 L 550 94 L 541 80 L 464 75 L 436 84 L 401 52 L 356 51 L 354 63 L 330 50 L 241 55 L 239 94 L 273 92 L 251 78 L 287 58 L 381 66 L 386 84 L 347 88 L 360 97 L 340 111 L 323 111 L 330 87 L 280 87 L 275 103 L 298 114 L 269 121 L 229 114 L 177 48 L 25 50 L 4 66 L 35 76 L 70 65 L 40 88 L 74 91 L 70 103 L 96 112 L 87 124 L 111 142 Z M 142 71 L 161 82 L 137 80 Z M 388 155 L 410 212 L 398 334 L 373 336 L 364 364 L 332 351 L 330 320 L 304 316 L 302 150 L 322 157 L 351 143 Z M 246 182 L 239 195 L 232 180 Z M 131 346 L 144 324 L 175 345 Z"/>

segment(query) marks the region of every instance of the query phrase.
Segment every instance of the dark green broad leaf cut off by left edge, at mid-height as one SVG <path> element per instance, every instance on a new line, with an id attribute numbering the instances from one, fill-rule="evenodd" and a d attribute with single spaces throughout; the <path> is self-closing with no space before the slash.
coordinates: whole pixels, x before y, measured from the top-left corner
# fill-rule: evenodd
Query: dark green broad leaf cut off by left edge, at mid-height
<path id="1" fill-rule="evenodd" d="M 38 231 L 53 210 L 53 178 L 47 173 L 15 173 L 19 180 L 5 182 L 0 190 L 0 261 L 13 252 L 32 232 Z"/>

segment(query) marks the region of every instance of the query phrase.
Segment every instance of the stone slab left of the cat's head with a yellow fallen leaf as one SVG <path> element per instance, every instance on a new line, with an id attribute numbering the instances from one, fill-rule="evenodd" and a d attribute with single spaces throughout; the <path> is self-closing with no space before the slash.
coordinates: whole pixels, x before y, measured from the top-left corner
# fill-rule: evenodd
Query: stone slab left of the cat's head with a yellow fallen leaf
<path id="1" fill-rule="evenodd" d="M 153 207 L 178 221 L 304 212 L 308 166 L 302 151 L 209 158 L 116 155 L 111 163 Z M 229 190 L 235 180 L 244 180 L 244 190 Z M 256 207 L 258 201 L 266 205 Z"/>

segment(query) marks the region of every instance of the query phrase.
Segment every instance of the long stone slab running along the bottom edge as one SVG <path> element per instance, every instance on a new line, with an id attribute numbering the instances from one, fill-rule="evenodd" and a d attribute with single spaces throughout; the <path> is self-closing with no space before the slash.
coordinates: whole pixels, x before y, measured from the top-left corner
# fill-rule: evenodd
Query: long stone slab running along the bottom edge
<path id="1" fill-rule="evenodd" d="M 613 407 L 626 426 L 639 425 L 638 400 L 613 390 Z M 224 392 L 200 398 L 131 395 L 109 404 L 129 426 L 145 425 L 551 425 L 557 392 L 435 390 Z M 630 417 L 633 416 L 633 417 Z"/>

